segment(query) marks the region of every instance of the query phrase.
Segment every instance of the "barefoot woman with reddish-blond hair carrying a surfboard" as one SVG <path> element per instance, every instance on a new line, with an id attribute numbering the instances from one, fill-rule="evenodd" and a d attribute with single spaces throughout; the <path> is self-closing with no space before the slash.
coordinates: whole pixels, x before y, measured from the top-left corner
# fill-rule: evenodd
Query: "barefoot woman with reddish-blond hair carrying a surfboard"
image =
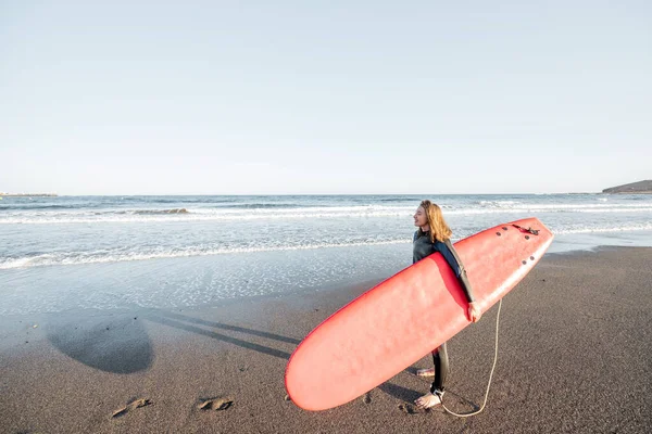
<path id="1" fill-rule="evenodd" d="M 450 242 L 452 231 L 441 215 L 441 208 L 430 201 L 423 201 L 414 214 L 414 226 L 417 226 L 418 230 L 414 233 L 412 263 L 422 260 L 435 252 L 441 253 L 464 289 L 466 299 L 468 301 L 468 318 L 471 321 L 476 322 L 480 319 L 481 312 L 477 304 L 474 303 L 471 283 L 468 283 L 468 279 L 466 278 L 466 270 Z M 422 369 L 417 371 L 417 375 L 435 375 L 430 392 L 414 401 L 422 409 L 441 404 L 443 384 L 448 374 L 446 342 L 432 352 L 432 360 L 435 369 Z"/>

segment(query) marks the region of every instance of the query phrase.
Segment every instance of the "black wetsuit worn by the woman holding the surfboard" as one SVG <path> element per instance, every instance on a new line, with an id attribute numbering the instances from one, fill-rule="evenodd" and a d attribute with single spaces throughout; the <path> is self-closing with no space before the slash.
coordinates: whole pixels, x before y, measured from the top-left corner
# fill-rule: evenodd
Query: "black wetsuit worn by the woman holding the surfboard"
<path id="1" fill-rule="evenodd" d="M 437 241 L 432 243 L 430 241 L 430 232 L 422 232 L 417 230 L 414 233 L 413 250 L 412 250 L 412 264 L 417 263 L 436 252 L 441 253 L 448 265 L 452 268 L 453 272 L 457 277 L 466 299 L 468 303 L 473 302 L 473 290 L 468 278 L 466 277 L 466 270 L 457 256 L 457 252 L 449 240 L 446 242 Z M 446 378 L 449 371 L 448 353 L 446 350 L 446 342 L 441 344 L 437 349 L 432 350 L 432 361 L 435 362 L 435 381 L 430 386 L 430 392 L 443 392 Z"/>

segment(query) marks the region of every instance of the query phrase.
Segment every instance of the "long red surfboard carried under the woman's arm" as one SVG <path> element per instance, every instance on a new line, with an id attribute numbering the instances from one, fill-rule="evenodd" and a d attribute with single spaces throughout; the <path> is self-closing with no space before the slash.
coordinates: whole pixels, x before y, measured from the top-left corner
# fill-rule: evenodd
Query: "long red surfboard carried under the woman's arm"
<path id="1" fill-rule="evenodd" d="M 538 219 L 527 218 L 455 243 L 482 311 L 532 269 L 552 239 Z M 297 406 L 313 411 L 349 403 L 468 326 L 467 306 L 443 256 L 430 255 L 314 329 L 288 361 L 288 395 Z"/>

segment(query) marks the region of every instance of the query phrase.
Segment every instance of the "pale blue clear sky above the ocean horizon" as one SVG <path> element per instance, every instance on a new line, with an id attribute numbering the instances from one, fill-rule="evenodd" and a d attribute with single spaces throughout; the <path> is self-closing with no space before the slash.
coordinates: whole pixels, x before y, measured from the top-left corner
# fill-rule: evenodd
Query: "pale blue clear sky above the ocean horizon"
<path id="1" fill-rule="evenodd" d="M 0 191 L 652 179 L 652 2 L 0 0 Z"/>

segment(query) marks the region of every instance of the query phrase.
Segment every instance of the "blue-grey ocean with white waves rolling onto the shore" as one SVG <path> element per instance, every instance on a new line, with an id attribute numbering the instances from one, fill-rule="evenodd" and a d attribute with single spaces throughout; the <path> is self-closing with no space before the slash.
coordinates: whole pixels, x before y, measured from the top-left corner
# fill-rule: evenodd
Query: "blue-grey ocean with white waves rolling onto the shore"
<path id="1" fill-rule="evenodd" d="M 412 215 L 455 240 L 535 216 L 550 252 L 652 245 L 652 195 L 59 196 L 0 201 L 0 315 L 193 308 L 389 277 Z"/>

